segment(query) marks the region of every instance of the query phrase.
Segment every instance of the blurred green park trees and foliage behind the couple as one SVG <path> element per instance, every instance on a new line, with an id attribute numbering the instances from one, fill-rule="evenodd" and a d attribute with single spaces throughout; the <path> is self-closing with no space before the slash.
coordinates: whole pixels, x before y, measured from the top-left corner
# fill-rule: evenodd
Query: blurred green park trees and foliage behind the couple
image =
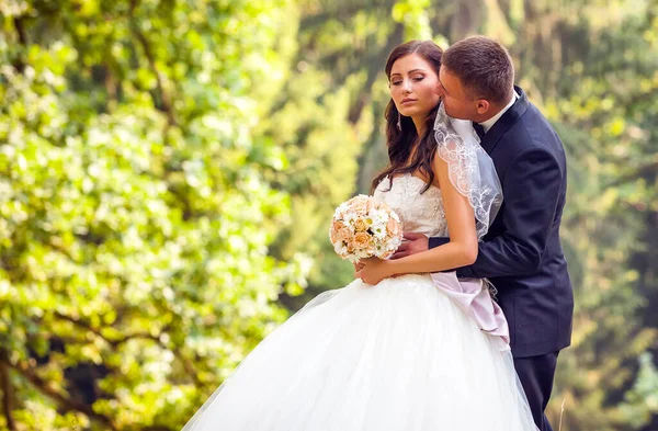
<path id="1" fill-rule="evenodd" d="M 0 430 L 180 430 L 347 284 L 384 64 L 486 34 L 568 150 L 557 430 L 658 430 L 658 0 L 0 0 Z M 413 364 L 409 364 L 413 366 Z M 455 430 L 458 431 L 458 430 Z"/>

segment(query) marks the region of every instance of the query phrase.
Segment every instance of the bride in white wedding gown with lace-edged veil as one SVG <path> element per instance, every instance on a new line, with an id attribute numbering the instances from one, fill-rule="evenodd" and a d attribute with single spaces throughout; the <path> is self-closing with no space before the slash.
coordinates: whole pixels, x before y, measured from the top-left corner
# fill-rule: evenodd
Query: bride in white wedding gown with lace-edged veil
<path id="1" fill-rule="evenodd" d="M 502 199 L 470 123 L 440 103 L 441 55 L 416 41 L 389 55 L 390 165 L 373 186 L 405 231 L 450 243 L 363 262 L 263 340 L 183 431 L 536 430 L 488 283 L 441 272 L 475 261 Z"/>

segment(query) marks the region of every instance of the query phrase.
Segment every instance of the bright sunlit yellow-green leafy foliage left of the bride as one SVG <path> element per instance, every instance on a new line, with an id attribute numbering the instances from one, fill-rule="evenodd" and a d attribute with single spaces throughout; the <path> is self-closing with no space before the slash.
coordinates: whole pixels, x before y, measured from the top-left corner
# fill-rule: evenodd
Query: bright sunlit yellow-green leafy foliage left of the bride
<path id="1" fill-rule="evenodd" d="M 180 429 L 305 284 L 302 257 L 268 254 L 287 160 L 253 138 L 295 8 L 66 4 L 3 10 L 4 396 L 21 429 Z"/>

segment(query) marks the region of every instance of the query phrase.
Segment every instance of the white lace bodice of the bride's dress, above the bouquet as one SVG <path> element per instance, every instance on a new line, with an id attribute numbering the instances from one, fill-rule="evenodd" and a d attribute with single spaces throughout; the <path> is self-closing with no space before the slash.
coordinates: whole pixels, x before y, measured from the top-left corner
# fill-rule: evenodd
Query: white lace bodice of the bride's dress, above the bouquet
<path id="1" fill-rule="evenodd" d="M 386 178 L 375 190 L 375 200 L 385 202 L 400 216 L 402 230 L 428 237 L 447 236 L 441 189 L 430 185 L 421 194 L 426 182 L 412 174 L 396 177 L 393 185 Z"/>

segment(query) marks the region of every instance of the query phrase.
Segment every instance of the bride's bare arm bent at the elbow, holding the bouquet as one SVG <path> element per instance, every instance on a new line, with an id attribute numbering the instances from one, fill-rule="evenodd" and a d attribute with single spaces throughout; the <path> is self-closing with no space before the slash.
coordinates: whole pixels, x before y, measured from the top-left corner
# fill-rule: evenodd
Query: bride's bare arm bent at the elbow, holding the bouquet
<path id="1" fill-rule="evenodd" d="M 396 274 L 439 272 L 473 264 L 477 258 L 475 214 L 468 197 L 461 194 L 449 177 L 449 166 L 439 155 L 432 169 L 439 179 L 450 242 L 433 249 L 396 260 L 366 259 L 363 270 L 356 272 L 368 284 Z"/>

